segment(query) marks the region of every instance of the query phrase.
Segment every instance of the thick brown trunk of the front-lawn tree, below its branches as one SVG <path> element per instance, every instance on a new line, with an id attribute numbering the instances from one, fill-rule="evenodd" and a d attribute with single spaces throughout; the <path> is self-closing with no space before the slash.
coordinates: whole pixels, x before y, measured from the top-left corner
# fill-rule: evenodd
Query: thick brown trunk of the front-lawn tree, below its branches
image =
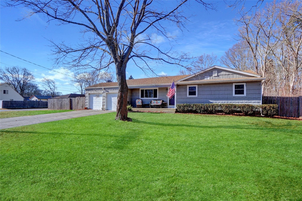
<path id="1" fill-rule="evenodd" d="M 116 68 L 116 78 L 118 83 L 118 94 L 117 94 L 117 109 L 116 109 L 116 120 L 122 121 L 132 121 L 131 118 L 127 117 L 127 96 L 128 96 L 128 86 L 126 82 L 126 66 L 123 62 L 117 63 Z"/>

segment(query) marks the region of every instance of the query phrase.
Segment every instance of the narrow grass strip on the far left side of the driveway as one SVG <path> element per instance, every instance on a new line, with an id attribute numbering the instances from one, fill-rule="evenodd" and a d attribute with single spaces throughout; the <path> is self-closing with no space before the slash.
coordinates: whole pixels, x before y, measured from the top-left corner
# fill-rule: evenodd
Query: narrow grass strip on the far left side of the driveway
<path id="1" fill-rule="evenodd" d="M 0 118 L 44 115 L 44 114 L 50 114 L 50 113 L 69 112 L 69 111 L 72 111 L 72 110 L 1 111 Z"/>

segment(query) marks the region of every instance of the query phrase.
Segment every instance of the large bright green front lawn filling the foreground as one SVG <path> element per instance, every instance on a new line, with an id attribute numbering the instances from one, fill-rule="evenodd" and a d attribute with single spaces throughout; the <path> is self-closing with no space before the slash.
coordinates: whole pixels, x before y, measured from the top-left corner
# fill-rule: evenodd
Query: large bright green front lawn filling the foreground
<path id="1" fill-rule="evenodd" d="M 302 121 L 115 113 L 1 130 L 3 200 L 301 200 Z"/>

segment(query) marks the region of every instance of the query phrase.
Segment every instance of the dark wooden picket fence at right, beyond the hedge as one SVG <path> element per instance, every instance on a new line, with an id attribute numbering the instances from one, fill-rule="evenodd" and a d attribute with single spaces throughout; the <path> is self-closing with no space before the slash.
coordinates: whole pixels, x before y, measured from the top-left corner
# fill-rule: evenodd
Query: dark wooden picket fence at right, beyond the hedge
<path id="1" fill-rule="evenodd" d="M 262 96 L 262 104 L 278 105 L 278 115 L 281 117 L 302 118 L 302 96 Z"/>

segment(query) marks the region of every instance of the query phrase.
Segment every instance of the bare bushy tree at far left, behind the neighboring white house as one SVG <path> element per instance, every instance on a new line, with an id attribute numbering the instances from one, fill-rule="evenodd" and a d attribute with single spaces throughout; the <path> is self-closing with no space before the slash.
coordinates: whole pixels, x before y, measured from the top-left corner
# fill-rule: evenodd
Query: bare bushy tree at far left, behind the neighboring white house
<path id="1" fill-rule="evenodd" d="M 0 69 L 0 80 L 24 96 L 24 93 L 34 85 L 35 78 L 26 68 L 5 67 Z"/>

